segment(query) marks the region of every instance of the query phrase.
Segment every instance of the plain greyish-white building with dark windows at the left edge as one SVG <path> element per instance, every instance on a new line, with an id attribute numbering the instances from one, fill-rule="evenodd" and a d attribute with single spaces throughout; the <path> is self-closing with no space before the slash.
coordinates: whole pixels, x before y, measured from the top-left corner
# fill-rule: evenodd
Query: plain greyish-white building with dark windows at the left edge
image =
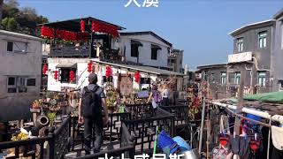
<path id="1" fill-rule="evenodd" d="M 0 121 L 30 117 L 39 97 L 42 39 L 0 30 Z"/>

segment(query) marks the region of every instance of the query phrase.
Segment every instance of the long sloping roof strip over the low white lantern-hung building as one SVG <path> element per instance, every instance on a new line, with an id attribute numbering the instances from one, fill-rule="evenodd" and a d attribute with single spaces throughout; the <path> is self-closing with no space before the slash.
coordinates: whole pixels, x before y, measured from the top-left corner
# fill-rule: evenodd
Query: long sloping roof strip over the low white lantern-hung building
<path id="1" fill-rule="evenodd" d="M 114 63 L 108 63 L 108 62 L 103 62 L 103 61 L 98 61 L 98 60 L 93 60 L 97 63 L 101 64 L 109 64 L 109 65 L 114 65 L 118 67 L 123 67 L 126 69 L 132 69 L 140 72 L 149 72 L 157 75 L 176 75 L 176 76 L 185 76 L 185 74 L 179 73 L 179 72 L 170 72 L 167 70 L 162 70 L 162 69 L 157 69 L 154 67 L 149 67 L 149 66 L 143 66 L 143 65 L 133 65 L 133 64 L 114 64 Z"/>

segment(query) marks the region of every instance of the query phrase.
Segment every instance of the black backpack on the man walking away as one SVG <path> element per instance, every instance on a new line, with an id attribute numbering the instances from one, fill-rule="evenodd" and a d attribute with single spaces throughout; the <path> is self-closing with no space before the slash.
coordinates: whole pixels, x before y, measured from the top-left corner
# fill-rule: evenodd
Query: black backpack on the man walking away
<path id="1" fill-rule="evenodd" d="M 98 86 L 93 90 L 84 87 L 85 94 L 81 99 L 81 114 L 82 117 L 101 117 L 102 116 L 102 100 L 100 95 L 96 94 Z"/>

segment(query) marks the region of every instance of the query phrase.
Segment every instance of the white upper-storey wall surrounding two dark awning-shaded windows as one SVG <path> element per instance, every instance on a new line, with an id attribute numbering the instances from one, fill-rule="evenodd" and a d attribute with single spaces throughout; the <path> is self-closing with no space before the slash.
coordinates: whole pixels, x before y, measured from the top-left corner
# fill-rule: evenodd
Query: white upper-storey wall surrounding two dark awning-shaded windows
<path id="1" fill-rule="evenodd" d="M 131 40 L 139 41 L 143 45 L 139 47 L 139 63 L 149 66 L 167 67 L 168 48 L 171 47 L 151 34 L 121 35 L 121 48 L 124 49 L 124 46 L 126 46 L 126 61 L 137 62 L 136 57 L 131 57 Z M 151 44 L 158 45 L 161 48 L 161 50 L 158 50 L 157 60 L 151 59 Z"/>

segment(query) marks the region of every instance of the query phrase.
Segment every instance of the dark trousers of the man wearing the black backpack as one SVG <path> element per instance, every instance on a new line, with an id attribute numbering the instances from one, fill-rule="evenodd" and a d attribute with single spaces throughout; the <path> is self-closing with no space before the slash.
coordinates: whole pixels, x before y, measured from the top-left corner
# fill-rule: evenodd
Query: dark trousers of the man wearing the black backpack
<path id="1" fill-rule="evenodd" d="M 95 133 L 94 153 L 99 152 L 103 144 L 103 117 L 84 118 L 84 137 L 85 137 L 85 151 L 86 155 L 90 154 L 92 134 Z M 93 129 L 95 129 L 93 131 Z"/>

